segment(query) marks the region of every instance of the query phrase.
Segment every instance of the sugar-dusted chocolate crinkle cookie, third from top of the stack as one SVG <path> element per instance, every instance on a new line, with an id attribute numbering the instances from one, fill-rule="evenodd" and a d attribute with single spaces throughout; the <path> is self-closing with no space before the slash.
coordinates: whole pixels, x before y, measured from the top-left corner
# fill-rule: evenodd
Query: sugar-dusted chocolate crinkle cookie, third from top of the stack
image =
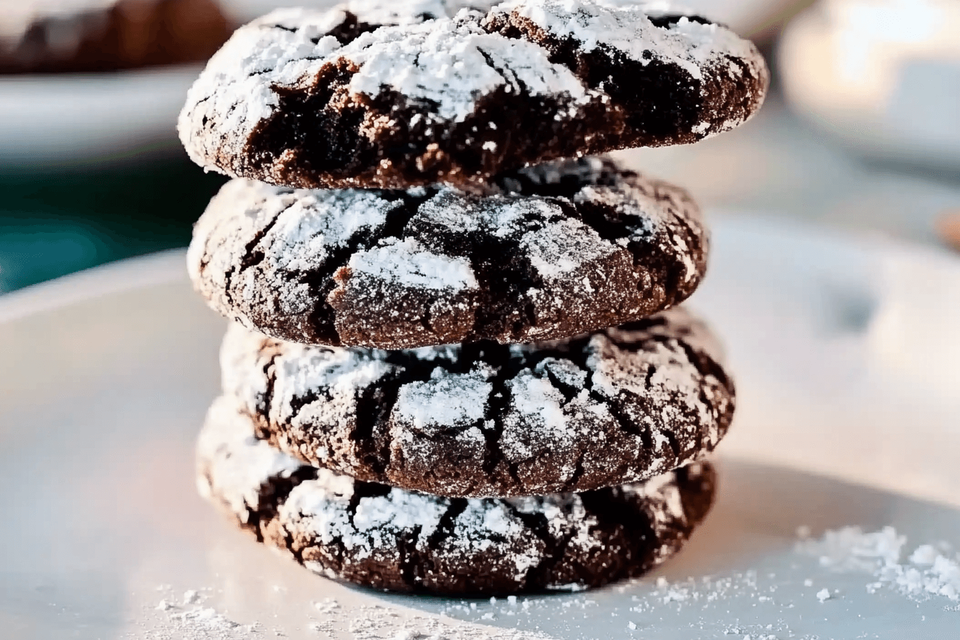
<path id="1" fill-rule="evenodd" d="M 234 324 L 224 392 L 303 462 L 444 496 L 583 491 L 702 458 L 732 381 L 683 308 L 578 338 L 407 351 L 284 343 Z"/>

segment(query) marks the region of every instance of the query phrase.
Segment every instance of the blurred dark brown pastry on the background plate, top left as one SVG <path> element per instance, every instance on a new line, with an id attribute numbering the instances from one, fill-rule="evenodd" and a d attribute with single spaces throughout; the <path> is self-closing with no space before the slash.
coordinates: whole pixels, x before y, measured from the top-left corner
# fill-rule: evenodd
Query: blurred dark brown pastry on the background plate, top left
<path id="1" fill-rule="evenodd" d="M 0 12 L 0 73 L 204 60 L 233 26 L 214 0 L 22 0 Z"/>

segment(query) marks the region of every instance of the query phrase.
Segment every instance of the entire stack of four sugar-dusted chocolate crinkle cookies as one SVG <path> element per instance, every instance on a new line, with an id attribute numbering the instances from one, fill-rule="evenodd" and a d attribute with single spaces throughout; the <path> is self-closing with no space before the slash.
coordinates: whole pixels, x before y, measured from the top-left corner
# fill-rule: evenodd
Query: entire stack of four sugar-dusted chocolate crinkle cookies
<path id="1" fill-rule="evenodd" d="M 636 5 L 409 4 L 268 14 L 189 93 L 188 153 L 235 178 L 188 253 L 235 320 L 199 486 L 334 580 L 636 577 L 706 516 L 733 387 L 676 306 L 696 204 L 588 154 L 732 129 L 763 59 Z"/>

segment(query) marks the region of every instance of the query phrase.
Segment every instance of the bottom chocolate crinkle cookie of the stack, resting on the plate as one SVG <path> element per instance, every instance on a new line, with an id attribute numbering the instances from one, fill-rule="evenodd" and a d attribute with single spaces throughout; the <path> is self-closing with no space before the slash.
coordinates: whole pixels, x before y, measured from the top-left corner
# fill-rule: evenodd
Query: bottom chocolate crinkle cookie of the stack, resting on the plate
<path id="1" fill-rule="evenodd" d="M 671 557 L 707 514 L 706 462 L 643 484 L 524 498 L 443 498 L 304 466 L 253 438 L 227 398 L 198 443 L 198 485 L 306 568 L 396 591 L 498 595 L 595 587 Z"/>

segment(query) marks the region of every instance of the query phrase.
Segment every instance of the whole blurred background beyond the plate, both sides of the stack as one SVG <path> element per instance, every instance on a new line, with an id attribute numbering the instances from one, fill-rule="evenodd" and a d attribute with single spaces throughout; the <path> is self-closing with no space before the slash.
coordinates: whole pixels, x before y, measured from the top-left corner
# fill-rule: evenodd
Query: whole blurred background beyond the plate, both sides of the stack
<path id="1" fill-rule="evenodd" d="M 184 247 L 225 178 L 174 130 L 187 87 L 271 0 L 0 1 L 0 293 Z M 759 115 L 695 147 L 621 153 L 714 215 L 960 249 L 960 2 L 686 0 L 753 38 Z"/>

